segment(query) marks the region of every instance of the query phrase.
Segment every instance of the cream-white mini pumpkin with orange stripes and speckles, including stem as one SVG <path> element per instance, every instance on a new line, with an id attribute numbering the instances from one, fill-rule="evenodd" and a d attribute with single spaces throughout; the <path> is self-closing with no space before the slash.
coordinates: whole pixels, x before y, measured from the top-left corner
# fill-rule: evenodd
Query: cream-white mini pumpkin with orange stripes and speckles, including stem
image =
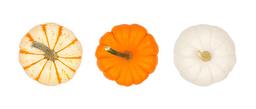
<path id="1" fill-rule="evenodd" d="M 30 78 L 44 85 L 69 81 L 81 61 L 80 41 L 71 30 L 55 23 L 33 27 L 20 43 L 20 64 Z"/>

